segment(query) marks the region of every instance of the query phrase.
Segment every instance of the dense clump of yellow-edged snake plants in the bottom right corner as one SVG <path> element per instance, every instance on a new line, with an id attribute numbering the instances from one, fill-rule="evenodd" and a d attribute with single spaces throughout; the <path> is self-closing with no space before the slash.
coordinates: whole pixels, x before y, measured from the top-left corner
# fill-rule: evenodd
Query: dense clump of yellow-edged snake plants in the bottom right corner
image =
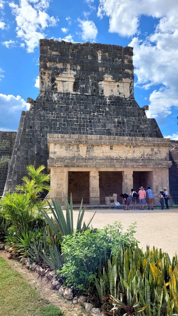
<path id="1" fill-rule="evenodd" d="M 117 255 L 108 260 L 99 279 L 96 278 L 103 311 L 113 315 L 110 312 L 113 304 L 118 315 L 121 313 L 121 305 L 123 308 L 125 305 L 130 306 L 130 300 L 134 298 L 139 308 L 145 307 L 142 315 L 176 315 L 178 313 L 177 271 L 177 256 L 173 257 L 171 263 L 168 254 L 162 253 L 161 249 L 158 252 L 154 247 L 153 250 L 147 248 L 143 253 L 138 246 L 135 249 L 121 248 Z"/>

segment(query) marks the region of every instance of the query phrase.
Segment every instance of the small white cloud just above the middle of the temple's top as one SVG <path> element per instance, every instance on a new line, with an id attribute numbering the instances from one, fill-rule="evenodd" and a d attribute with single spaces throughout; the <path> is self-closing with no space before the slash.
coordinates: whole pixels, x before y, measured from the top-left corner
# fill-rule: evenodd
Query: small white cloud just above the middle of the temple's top
<path id="1" fill-rule="evenodd" d="M 79 27 L 82 29 L 81 37 L 82 40 L 94 42 L 96 40 L 98 30 L 93 21 L 80 20 Z"/>

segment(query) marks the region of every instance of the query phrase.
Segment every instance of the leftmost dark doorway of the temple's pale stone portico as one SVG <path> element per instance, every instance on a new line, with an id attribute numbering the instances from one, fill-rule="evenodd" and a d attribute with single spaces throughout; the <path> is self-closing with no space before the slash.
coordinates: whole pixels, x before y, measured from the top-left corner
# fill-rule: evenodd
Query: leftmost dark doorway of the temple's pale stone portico
<path id="1" fill-rule="evenodd" d="M 85 171 L 69 171 L 68 172 L 68 199 L 72 192 L 73 204 L 83 203 L 89 204 L 89 172 Z"/>

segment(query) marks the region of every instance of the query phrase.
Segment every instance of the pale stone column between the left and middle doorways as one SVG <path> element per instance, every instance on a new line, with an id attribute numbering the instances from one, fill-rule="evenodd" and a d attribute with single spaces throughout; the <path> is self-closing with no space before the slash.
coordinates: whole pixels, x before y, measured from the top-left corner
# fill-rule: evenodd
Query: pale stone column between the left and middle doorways
<path id="1" fill-rule="evenodd" d="M 99 172 L 90 171 L 90 204 L 99 205 Z"/>

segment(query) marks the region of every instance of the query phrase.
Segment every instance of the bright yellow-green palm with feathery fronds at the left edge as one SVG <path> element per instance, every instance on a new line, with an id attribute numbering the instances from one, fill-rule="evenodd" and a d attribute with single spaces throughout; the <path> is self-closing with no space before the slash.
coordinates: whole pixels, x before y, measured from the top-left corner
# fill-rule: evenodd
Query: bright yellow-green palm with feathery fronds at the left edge
<path id="1" fill-rule="evenodd" d="M 44 205 L 39 200 L 40 194 L 44 190 L 50 189 L 47 182 L 49 174 L 42 173 L 44 166 L 35 169 L 34 166 L 27 166 L 28 177 L 23 177 L 22 185 L 17 185 L 16 189 L 20 193 L 7 192 L 0 199 L 1 216 L 3 216 L 13 226 L 16 232 L 34 228 L 35 224 L 43 222 L 39 207 Z"/>

